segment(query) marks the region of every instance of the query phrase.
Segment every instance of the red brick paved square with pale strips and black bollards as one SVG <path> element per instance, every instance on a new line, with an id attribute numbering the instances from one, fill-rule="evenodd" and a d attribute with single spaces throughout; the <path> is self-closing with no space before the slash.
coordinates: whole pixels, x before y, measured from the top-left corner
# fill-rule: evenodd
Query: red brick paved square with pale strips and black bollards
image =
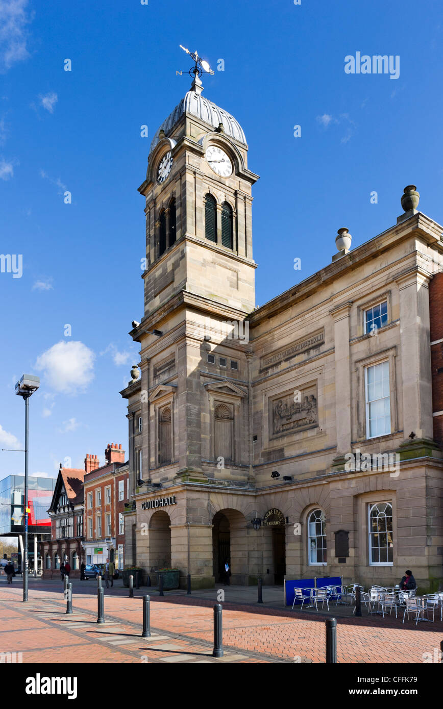
<path id="1" fill-rule="evenodd" d="M 212 657 L 213 605 L 224 591 L 224 657 Z M 142 596 L 151 596 L 151 638 L 141 638 Z M 434 655 L 443 623 L 419 623 L 403 615 L 381 618 L 349 615 L 337 607 L 326 611 L 283 608 L 281 587 L 263 587 L 265 603 L 256 603 L 256 588 L 166 591 L 128 589 L 121 581 L 104 590 L 104 625 L 97 624 L 97 582 L 73 585 L 74 613 L 66 614 L 63 584 L 30 580 L 23 603 L 21 578 L 7 585 L 0 579 L 0 654 L 21 652 L 23 663 L 324 663 L 324 621 L 337 618 L 337 661 L 343 663 L 422 663 Z M 346 613 L 348 615 L 346 615 Z"/>

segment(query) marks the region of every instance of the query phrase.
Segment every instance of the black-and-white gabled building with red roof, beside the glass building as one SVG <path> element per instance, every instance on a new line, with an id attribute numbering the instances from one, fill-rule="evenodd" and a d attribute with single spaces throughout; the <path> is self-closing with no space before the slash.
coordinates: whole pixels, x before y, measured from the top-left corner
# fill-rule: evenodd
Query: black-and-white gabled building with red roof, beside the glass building
<path id="1" fill-rule="evenodd" d="M 62 468 L 58 471 L 53 499 L 48 509 L 51 520 L 50 542 L 44 542 L 43 578 L 60 577 L 60 565 L 69 560 L 70 576 L 80 578 L 83 558 L 84 504 L 83 479 L 85 471 Z"/>

